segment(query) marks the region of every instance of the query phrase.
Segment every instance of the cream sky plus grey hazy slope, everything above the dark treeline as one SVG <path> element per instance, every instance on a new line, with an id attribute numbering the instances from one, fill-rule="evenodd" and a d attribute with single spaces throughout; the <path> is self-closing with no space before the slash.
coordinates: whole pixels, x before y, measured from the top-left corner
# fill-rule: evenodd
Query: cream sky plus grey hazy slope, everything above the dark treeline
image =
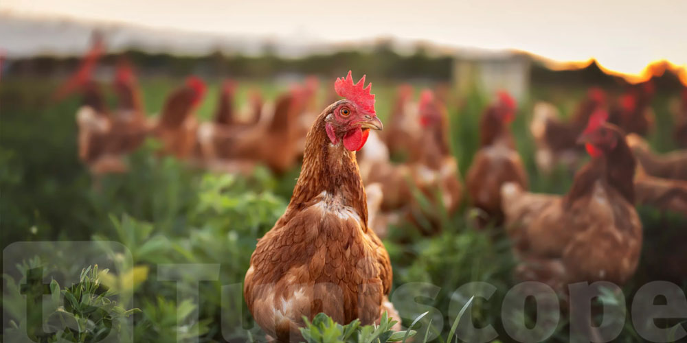
<path id="1" fill-rule="evenodd" d="M 9 58 L 78 54 L 93 28 L 112 32 L 114 51 L 189 55 L 256 53 L 269 40 L 286 55 L 302 56 L 392 38 L 444 52 L 515 49 L 558 63 L 594 58 L 609 71 L 635 77 L 644 76 L 651 62 L 666 60 L 684 75 L 686 12 L 687 3 L 679 0 L 7 0 L 0 4 L 0 47 Z"/>

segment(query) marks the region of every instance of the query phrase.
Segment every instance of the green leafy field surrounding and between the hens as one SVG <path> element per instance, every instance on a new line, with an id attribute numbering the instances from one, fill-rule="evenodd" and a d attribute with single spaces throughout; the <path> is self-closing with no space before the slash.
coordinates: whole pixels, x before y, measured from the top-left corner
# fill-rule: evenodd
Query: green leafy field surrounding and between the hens
<path id="1" fill-rule="evenodd" d="M 52 104 L 49 94 L 56 82 L 51 80 L 3 79 L 2 82 L 3 341 L 12 342 L 12 338 L 29 332 L 30 337 L 41 342 L 53 342 L 58 330 L 54 328 L 64 327 L 56 322 L 64 324 L 69 320 L 78 323 L 78 329 L 72 325 L 71 331 L 59 330 L 70 332 L 79 342 L 98 342 L 111 330 L 135 342 L 177 339 L 195 342 L 196 338 L 200 342 L 262 340 L 260 329 L 253 324 L 243 303 L 240 283 L 256 239 L 271 228 L 289 202 L 298 168 L 279 177 L 266 168 L 247 178 L 212 174 L 173 158 L 157 156 L 153 152 L 156 142 L 148 141 L 130 156 L 130 173 L 108 176 L 94 185 L 76 156 L 74 114 L 78 99 Z M 148 113 L 159 110 L 166 94 L 178 82 L 142 80 Z M 287 86 L 249 80 L 238 82 L 239 102 L 245 100 L 251 86 L 259 86 L 267 99 Z M 322 87 L 330 85 L 323 84 Z M 414 86 L 419 91 L 425 85 Z M 210 84 L 208 97 L 199 111 L 203 118 L 210 117 L 214 109 L 217 87 L 218 82 Z M 376 108 L 382 120 L 389 112 L 394 89 L 395 84 L 374 82 Z M 584 92 L 581 87 L 535 87 L 530 99 L 553 102 L 563 113 L 570 113 Z M 324 94 L 323 88 L 320 95 L 324 97 Z M 659 93 L 653 102 L 657 130 L 649 141 L 659 151 L 674 148 L 668 114 L 672 96 Z M 477 119 L 487 102 L 487 97 L 473 93 L 460 102 L 461 106 L 453 104 L 450 108 L 451 143 L 463 175 L 477 148 Z M 534 167 L 534 143 L 527 130 L 532 102 L 519 104 L 519 115 L 513 123 L 532 190 L 565 193 L 572 182 L 567 171 L 559 170 L 543 177 Z M 680 225 L 679 219 L 652 209 L 640 209 L 640 214 L 645 236 L 640 269 L 624 286 L 624 301 L 611 296 L 605 299 L 619 309 L 631 303 L 631 294 L 643 282 L 652 279 L 653 255 L 661 250 L 662 239 L 670 239 L 669 233 L 662 230 L 664 224 Z M 515 285 L 512 277 L 515 261 L 503 228 L 476 230 L 470 224 L 474 215 L 469 209 L 461 211 L 460 215 L 449 218 L 443 224 L 442 233 L 434 237 L 423 237 L 410 224 L 404 224 L 391 228 L 390 237 L 385 239 L 394 268 L 391 299 L 403 316 L 403 324 L 407 327 L 414 318 L 429 311 L 420 321 L 422 326 L 418 324 L 414 328 L 424 335 L 431 320 L 437 334 L 430 331 L 430 340 L 436 338 L 436 342 L 447 338 L 458 310 L 474 294 L 471 288 L 474 284 L 469 283 L 475 281 L 495 286 L 491 298 L 475 298 L 470 308 L 476 327 L 491 324 L 499 333 L 498 338 L 491 340 L 510 342 L 504 332 L 504 321 L 534 321 L 529 313 L 524 317 L 523 314 L 502 315 L 502 300 Z M 74 243 L 40 246 L 36 243 L 39 241 Z M 28 248 L 15 242 L 24 242 L 21 244 Z M 13 246 L 14 250 L 10 249 Z M 120 248 L 123 252 L 117 251 Z M 10 253 L 17 249 L 23 254 Z M 37 258 L 33 258 L 33 252 Z M 97 259 L 89 259 L 96 255 Z M 51 256 L 59 258 L 51 259 Z M 96 272 L 92 261 L 99 259 L 109 265 L 99 264 L 100 272 Z M 194 266 L 189 269 L 189 264 Z M 81 275 L 89 266 L 91 270 Z M 44 289 L 29 287 L 27 290 L 21 285 L 32 277 L 35 279 L 32 270 L 38 267 L 43 268 L 38 280 L 43 278 L 44 283 L 49 283 L 52 278 L 56 283 L 45 290 L 45 294 L 53 297 L 43 305 L 42 316 L 36 317 L 34 312 L 27 311 L 22 294 Z M 111 271 L 103 274 L 103 268 Z M 181 274 L 179 279 L 175 279 L 175 271 Z M 70 286 L 69 281 L 74 281 L 74 277 L 82 281 L 79 286 L 82 289 Z M 98 285 L 91 284 L 95 279 L 105 286 L 102 289 L 111 293 L 102 293 Z M 466 284 L 468 287 L 462 287 Z M 681 286 L 687 289 L 686 285 Z M 68 287 L 63 292 L 69 294 L 65 295 L 65 303 L 57 300 L 59 287 Z M 108 296 L 116 297 L 116 304 L 107 303 L 117 307 L 113 311 L 116 315 L 94 317 L 89 311 L 92 307 L 81 307 L 85 305 L 78 296 L 74 302 L 69 298 L 71 294 L 87 292 L 106 295 L 98 298 L 102 303 L 107 303 Z M 98 307 L 98 304 L 90 305 Z M 550 337 L 552 341 L 571 339 L 566 316 L 562 318 Z M 613 320 L 624 321 L 617 338 L 619 342 L 641 340 L 624 312 L 622 317 Z M 45 325 L 36 325 L 39 322 Z M 462 320 L 461 325 L 465 322 L 469 320 Z"/>

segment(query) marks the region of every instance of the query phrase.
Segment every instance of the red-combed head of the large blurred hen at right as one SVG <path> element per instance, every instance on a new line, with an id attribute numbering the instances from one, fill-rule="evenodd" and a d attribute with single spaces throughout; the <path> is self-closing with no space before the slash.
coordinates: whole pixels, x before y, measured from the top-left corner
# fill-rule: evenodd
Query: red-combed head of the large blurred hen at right
<path id="1" fill-rule="evenodd" d="M 584 144 L 592 157 L 611 152 L 618 145 L 618 141 L 624 139 L 620 131 L 606 123 L 607 119 L 608 113 L 605 110 L 596 110 L 589 117 L 587 128 L 578 138 L 578 143 Z"/>

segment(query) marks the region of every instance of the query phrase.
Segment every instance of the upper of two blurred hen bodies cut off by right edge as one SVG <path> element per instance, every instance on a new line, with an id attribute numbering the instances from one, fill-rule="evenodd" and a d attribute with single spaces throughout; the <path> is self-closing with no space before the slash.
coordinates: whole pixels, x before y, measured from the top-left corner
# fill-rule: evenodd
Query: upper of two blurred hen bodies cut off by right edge
<path id="1" fill-rule="evenodd" d="M 655 154 L 637 134 L 628 134 L 627 143 L 646 174 L 657 178 L 687 181 L 687 150 Z"/>

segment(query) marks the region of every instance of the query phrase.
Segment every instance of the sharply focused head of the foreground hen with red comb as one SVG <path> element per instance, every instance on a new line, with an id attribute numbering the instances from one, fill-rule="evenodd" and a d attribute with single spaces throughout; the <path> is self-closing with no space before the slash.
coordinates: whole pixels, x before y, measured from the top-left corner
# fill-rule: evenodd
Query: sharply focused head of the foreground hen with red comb
<path id="1" fill-rule="evenodd" d="M 368 139 L 370 129 L 382 130 L 382 122 L 374 111 L 374 94 L 370 94 L 372 84 L 365 84 L 365 75 L 357 84 L 353 83 L 350 71 L 346 78 L 337 78 L 334 89 L 346 99 L 330 105 L 326 113 L 325 130 L 332 144 L 343 141 L 350 151 L 358 151 Z"/>

